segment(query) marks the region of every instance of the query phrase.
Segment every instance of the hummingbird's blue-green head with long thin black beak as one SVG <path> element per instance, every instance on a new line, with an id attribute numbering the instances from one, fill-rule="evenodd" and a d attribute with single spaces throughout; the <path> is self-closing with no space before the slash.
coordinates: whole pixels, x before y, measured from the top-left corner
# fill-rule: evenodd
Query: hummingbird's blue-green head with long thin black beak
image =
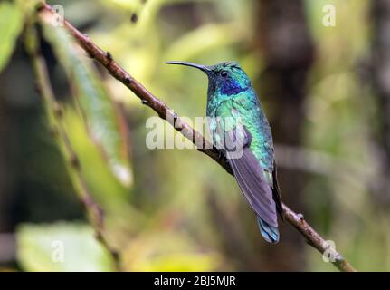
<path id="1" fill-rule="evenodd" d="M 214 95 L 235 95 L 246 91 L 251 86 L 251 80 L 238 63 L 224 62 L 215 65 L 203 65 L 185 62 L 166 62 L 195 67 L 208 76 L 208 91 Z"/>

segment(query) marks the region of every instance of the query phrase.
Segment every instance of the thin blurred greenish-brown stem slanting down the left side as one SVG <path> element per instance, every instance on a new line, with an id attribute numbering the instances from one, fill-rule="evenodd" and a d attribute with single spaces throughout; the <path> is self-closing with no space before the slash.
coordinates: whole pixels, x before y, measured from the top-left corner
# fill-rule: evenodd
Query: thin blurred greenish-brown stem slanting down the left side
<path id="1" fill-rule="evenodd" d="M 32 34 L 33 31 L 30 31 L 29 33 Z M 30 37 L 35 36 L 30 35 Z M 90 225 L 95 231 L 96 238 L 100 244 L 108 250 L 109 255 L 113 259 L 115 268 L 120 270 L 118 252 L 110 247 L 105 235 L 103 211 L 100 208 L 100 205 L 92 198 L 87 181 L 81 170 L 80 160 L 77 157 L 75 150 L 73 150 L 71 140 L 65 130 L 65 124 L 62 118 L 62 108 L 55 100 L 50 78 L 47 73 L 46 63 L 37 47 L 34 47 L 34 45 L 30 45 L 30 47 L 28 47 L 28 44 L 26 44 L 26 48 L 33 63 L 33 73 L 36 79 L 37 90 L 43 97 L 47 116 L 52 121 L 53 135 L 57 137 L 57 140 L 63 150 L 63 155 L 66 156 L 69 161 L 67 168 L 70 172 L 74 187 L 76 188 L 76 193 L 78 194 L 82 205 L 86 209 L 87 217 L 90 221 Z"/>

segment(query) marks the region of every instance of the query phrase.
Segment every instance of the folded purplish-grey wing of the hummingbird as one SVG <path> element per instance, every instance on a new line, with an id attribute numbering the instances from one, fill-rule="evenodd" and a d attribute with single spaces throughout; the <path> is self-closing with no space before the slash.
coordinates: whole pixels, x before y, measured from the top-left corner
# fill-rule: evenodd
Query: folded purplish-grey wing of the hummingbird
<path id="1" fill-rule="evenodd" d="M 251 133 L 244 126 L 237 126 L 231 131 L 226 131 L 224 134 L 225 144 L 243 145 L 241 154 L 236 154 L 231 150 L 231 147 L 226 148 L 226 157 L 233 169 L 234 177 L 253 211 L 272 227 L 278 227 L 272 189 L 264 177 L 259 160 L 249 148 L 251 140 Z"/>

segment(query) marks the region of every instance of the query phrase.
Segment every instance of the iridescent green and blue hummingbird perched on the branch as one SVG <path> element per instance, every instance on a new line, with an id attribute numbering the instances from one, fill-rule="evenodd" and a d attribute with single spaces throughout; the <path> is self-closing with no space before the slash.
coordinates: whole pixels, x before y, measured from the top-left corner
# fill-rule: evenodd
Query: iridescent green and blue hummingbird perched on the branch
<path id="1" fill-rule="evenodd" d="M 277 243 L 277 213 L 282 218 L 282 203 L 271 128 L 251 79 L 236 62 L 166 63 L 191 66 L 207 75 L 206 116 L 213 144 L 228 160 L 262 237 Z"/>

